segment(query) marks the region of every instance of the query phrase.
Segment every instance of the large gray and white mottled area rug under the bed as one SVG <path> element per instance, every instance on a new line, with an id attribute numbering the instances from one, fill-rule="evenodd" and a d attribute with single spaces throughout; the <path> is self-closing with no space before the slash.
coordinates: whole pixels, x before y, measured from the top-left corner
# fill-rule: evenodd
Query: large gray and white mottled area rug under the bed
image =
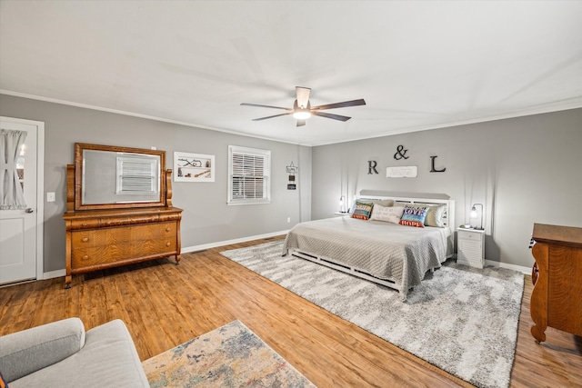
<path id="1" fill-rule="evenodd" d="M 304 259 L 283 242 L 222 252 L 330 313 L 477 387 L 507 387 L 524 275 L 448 263 L 408 294 Z"/>

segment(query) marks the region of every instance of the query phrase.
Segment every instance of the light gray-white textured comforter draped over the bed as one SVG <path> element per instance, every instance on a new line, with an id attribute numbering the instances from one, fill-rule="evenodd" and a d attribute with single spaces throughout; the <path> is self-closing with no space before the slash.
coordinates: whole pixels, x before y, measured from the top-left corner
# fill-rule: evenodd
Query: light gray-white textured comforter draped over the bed
<path id="1" fill-rule="evenodd" d="M 350 217 L 296 224 L 286 235 L 284 254 L 297 250 L 345 264 L 396 283 L 406 299 L 426 271 L 447 260 L 448 228 L 416 228 Z"/>

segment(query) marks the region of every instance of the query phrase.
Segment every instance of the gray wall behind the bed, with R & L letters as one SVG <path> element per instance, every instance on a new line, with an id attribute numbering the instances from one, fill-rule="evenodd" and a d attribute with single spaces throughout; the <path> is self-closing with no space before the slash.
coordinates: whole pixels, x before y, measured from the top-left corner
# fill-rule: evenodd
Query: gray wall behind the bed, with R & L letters
<path id="1" fill-rule="evenodd" d="M 398 145 L 407 160 L 395 160 Z M 448 194 L 458 224 L 485 204 L 486 259 L 531 266 L 534 223 L 582 226 L 582 109 L 398 134 L 313 149 L 312 218 L 362 189 Z M 429 173 L 430 156 L 444 173 Z M 375 160 L 380 174 L 367 174 Z M 386 178 L 386 166 L 416 165 L 416 178 Z"/>

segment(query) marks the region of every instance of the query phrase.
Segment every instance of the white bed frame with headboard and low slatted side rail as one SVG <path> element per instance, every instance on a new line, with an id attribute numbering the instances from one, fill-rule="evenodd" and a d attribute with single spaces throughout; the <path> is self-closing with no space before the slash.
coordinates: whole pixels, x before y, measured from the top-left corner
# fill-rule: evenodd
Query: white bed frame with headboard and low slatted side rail
<path id="1" fill-rule="evenodd" d="M 454 247 L 455 247 L 455 201 L 448 198 L 447 195 L 438 195 L 439 197 L 429 197 L 429 196 L 425 196 L 425 197 L 411 197 L 411 196 L 394 196 L 394 195 L 389 195 L 389 194 L 374 194 L 377 192 L 371 192 L 371 191 L 361 191 L 359 196 L 357 197 L 357 199 L 361 199 L 361 200 L 386 200 L 386 199 L 391 199 L 394 200 L 395 204 L 396 203 L 408 203 L 408 204 L 416 204 L 416 203 L 421 203 L 421 204 L 445 204 L 446 205 L 446 211 L 445 214 L 443 215 L 443 223 L 445 225 L 447 225 L 447 227 L 449 228 L 449 230 L 451 231 L 451 234 L 448 237 L 448 246 L 447 246 L 447 252 L 451 252 L 451 254 L 447 255 L 447 258 L 450 258 L 454 252 Z M 437 195 L 432 195 L 432 196 L 437 196 Z M 347 215 L 346 215 L 347 216 Z M 449 249 L 450 248 L 450 249 Z M 362 279 L 366 279 L 370 282 L 374 282 L 376 284 L 382 284 L 385 285 L 386 287 L 390 287 L 393 288 L 395 290 L 399 290 L 400 284 L 398 282 L 396 282 L 395 280 L 386 280 L 386 279 L 380 279 L 377 278 L 376 276 L 372 275 L 372 274 L 367 274 L 366 272 L 357 270 L 356 268 L 353 268 L 351 266 L 347 266 L 346 264 L 341 264 L 341 263 L 337 263 L 336 260 L 334 260 L 331 257 L 325 257 L 325 256 L 320 256 L 317 254 L 311 254 L 308 252 L 303 252 L 303 251 L 299 251 L 296 249 L 290 249 L 289 253 L 293 256 L 305 259 L 305 260 L 309 260 L 310 262 L 314 262 L 316 264 L 321 264 L 321 265 L 325 265 L 326 267 L 329 268 L 333 268 L 337 271 L 341 271 L 344 272 L 346 274 L 351 274 L 354 276 L 357 276 L 359 278 Z M 435 271 L 435 268 L 431 268 L 430 269 L 431 272 Z"/>

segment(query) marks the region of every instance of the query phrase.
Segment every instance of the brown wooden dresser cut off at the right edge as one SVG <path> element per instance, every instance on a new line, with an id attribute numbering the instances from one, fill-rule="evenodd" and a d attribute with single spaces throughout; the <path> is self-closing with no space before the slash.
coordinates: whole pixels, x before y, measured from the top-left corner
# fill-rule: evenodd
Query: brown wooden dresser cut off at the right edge
<path id="1" fill-rule="evenodd" d="M 531 328 L 537 343 L 547 326 L 582 336 L 582 228 L 534 224 Z"/>

